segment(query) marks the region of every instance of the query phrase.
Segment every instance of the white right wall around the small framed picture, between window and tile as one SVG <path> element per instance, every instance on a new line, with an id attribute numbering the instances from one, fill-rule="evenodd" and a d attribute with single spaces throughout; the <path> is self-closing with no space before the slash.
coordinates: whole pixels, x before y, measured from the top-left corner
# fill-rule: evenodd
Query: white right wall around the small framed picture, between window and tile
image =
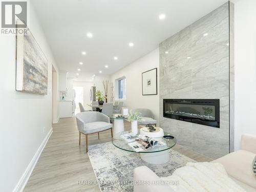
<path id="1" fill-rule="evenodd" d="M 126 99 L 123 106 L 127 106 L 129 111 L 135 108 L 150 109 L 156 119 L 159 119 L 159 93 L 157 95 L 142 95 L 141 73 L 157 68 L 157 82 L 159 90 L 159 49 L 132 62 L 110 77 L 115 90 L 115 79 L 122 76 L 126 77 Z M 115 91 L 113 91 L 115 93 Z"/>

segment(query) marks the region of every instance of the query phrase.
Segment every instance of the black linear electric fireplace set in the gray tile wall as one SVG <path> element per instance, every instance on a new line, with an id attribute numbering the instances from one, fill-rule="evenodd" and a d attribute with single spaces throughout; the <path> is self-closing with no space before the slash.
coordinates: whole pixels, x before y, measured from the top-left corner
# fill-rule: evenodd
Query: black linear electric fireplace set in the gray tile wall
<path id="1" fill-rule="evenodd" d="M 163 99 L 163 116 L 220 128 L 220 100 Z"/>

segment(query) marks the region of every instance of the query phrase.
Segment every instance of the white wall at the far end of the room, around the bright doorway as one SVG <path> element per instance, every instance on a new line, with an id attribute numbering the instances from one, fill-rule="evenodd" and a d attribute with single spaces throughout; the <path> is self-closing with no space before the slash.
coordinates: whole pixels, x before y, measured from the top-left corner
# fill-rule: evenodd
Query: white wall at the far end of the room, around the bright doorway
<path id="1" fill-rule="evenodd" d="M 87 104 L 91 103 L 90 89 L 93 86 L 93 82 L 88 81 L 73 81 L 73 87 L 83 87 L 83 108 L 85 110 L 91 110 L 91 107 Z"/>

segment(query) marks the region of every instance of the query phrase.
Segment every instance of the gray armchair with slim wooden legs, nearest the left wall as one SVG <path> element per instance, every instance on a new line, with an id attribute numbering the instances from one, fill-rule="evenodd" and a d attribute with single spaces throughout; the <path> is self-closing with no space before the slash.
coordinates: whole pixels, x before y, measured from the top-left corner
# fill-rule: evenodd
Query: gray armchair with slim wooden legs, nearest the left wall
<path id="1" fill-rule="evenodd" d="M 86 152 L 88 152 L 88 135 L 111 130 L 113 137 L 112 124 L 110 118 L 102 113 L 88 111 L 76 114 L 76 123 L 79 131 L 79 145 L 81 144 L 81 134 L 86 135 Z"/>

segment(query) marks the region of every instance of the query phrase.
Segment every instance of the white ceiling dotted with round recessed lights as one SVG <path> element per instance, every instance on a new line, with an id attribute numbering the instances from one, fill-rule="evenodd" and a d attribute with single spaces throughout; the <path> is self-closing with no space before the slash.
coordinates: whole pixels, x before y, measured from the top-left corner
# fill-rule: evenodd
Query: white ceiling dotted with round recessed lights
<path id="1" fill-rule="evenodd" d="M 227 0 L 32 0 L 61 71 L 112 74 Z M 159 14 L 166 18 L 159 20 Z M 87 33 L 93 34 L 92 38 Z M 129 47 L 129 42 L 134 47 Z M 82 55 L 85 51 L 87 54 Z M 113 57 L 117 56 L 118 60 Z M 83 62 L 80 66 L 79 62 Z M 108 65 L 109 68 L 104 68 Z M 80 68 L 81 71 L 77 71 Z"/>

